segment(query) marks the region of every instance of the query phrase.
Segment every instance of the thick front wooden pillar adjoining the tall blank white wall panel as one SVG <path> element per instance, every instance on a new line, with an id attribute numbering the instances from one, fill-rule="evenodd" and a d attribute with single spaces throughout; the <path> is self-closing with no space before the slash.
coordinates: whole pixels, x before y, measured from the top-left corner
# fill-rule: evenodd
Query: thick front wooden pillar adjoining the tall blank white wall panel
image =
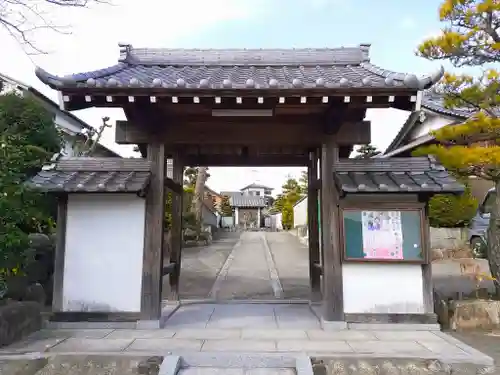
<path id="1" fill-rule="evenodd" d="M 151 181 L 146 195 L 146 223 L 142 264 L 141 320 L 161 317 L 163 230 L 165 220 L 165 145 L 148 145 Z"/>

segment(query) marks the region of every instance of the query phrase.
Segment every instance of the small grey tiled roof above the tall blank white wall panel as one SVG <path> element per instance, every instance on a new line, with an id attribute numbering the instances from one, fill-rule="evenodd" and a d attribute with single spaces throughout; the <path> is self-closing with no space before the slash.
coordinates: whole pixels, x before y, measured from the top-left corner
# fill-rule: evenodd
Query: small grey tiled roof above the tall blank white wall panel
<path id="1" fill-rule="evenodd" d="M 137 193 L 150 170 L 146 159 L 66 158 L 43 167 L 28 185 L 52 193 Z"/>

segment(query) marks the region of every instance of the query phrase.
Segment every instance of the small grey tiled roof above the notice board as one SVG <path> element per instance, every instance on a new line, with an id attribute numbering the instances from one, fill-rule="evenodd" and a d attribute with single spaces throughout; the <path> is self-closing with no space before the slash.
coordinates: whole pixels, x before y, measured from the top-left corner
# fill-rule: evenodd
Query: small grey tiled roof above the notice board
<path id="1" fill-rule="evenodd" d="M 432 157 L 342 159 L 334 180 L 345 193 L 462 193 L 464 186 Z"/>

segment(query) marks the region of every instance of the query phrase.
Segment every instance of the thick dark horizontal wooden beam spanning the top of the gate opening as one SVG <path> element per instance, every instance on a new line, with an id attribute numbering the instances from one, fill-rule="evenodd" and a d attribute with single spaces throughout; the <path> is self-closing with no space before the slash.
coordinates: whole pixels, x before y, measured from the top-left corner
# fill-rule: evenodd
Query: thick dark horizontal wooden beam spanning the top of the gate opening
<path id="1" fill-rule="evenodd" d="M 115 141 L 118 144 L 164 142 L 171 145 L 312 145 L 323 141 L 322 126 L 309 118 L 298 123 L 296 120 L 276 122 L 275 120 L 253 120 L 231 122 L 219 118 L 217 123 L 175 123 L 154 131 L 140 123 L 116 122 Z M 337 131 L 338 145 L 367 144 L 370 141 L 370 122 L 343 123 Z"/>

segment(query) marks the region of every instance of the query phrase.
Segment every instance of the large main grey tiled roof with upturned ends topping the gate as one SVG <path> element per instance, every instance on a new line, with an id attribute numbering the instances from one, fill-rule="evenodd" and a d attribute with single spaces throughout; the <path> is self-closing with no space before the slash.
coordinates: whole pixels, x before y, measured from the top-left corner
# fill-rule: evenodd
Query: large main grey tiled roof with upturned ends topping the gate
<path id="1" fill-rule="evenodd" d="M 149 87 L 160 89 L 426 89 L 444 70 L 418 78 L 373 65 L 370 45 L 302 49 L 153 49 L 121 45 L 118 64 L 106 69 L 36 74 L 54 89 Z"/>

